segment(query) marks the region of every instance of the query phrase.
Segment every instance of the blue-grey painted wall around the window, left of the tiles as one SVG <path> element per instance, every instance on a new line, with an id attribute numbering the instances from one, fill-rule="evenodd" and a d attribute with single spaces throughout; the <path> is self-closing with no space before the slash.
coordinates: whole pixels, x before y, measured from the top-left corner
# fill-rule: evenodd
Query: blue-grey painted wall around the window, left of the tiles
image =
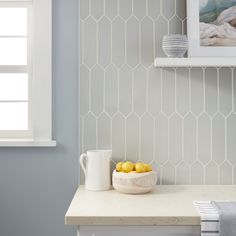
<path id="1" fill-rule="evenodd" d="M 72 236 L 64 214 L 77 186 L 77 0 L 53 2 L 56 148 L 0 148 L 0 235 Z"/>

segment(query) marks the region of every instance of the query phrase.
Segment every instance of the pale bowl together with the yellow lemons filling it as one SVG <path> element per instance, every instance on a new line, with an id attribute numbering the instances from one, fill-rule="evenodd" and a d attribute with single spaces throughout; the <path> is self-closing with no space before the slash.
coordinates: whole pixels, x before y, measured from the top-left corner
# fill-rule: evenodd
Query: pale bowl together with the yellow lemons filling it
<path id="1" fill-rule="evenodd" d="M 146 163 L 119 162 L 112 174 L 115 190 L 121 193 L 143 194 L 152 191 L 157 182 L 157 173 Z"/>

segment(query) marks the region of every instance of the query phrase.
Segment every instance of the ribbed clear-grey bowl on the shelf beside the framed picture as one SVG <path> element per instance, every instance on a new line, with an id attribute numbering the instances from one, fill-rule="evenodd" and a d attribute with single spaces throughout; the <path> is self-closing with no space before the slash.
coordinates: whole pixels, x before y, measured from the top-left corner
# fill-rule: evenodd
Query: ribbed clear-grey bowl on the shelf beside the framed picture
<path id="1" fill-rule="evenodd" d="M 162 40 L 162 49 L 167 57 L 184 57 L 188 50 L 188 39 L 186 35 L 165 35 Z"/>

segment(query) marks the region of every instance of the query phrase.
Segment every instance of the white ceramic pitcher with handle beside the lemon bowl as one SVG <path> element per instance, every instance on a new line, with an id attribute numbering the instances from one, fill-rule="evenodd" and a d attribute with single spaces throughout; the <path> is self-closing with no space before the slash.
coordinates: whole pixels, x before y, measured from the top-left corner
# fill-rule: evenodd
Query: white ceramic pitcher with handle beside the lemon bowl
<path id="1" fill-rule="evenodd" d="M 105 191 L 110 189 L 111 155 L 111 150 L 90 150 L 80 156 L 80 165 L 85 175 L 87 190 Z"/>

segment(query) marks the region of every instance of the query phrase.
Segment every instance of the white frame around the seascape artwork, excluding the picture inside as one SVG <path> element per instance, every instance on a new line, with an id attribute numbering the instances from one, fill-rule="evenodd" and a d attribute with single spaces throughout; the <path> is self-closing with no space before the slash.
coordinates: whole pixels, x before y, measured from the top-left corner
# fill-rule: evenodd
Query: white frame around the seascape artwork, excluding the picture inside
<path id="1" fill-rule="evenodd" d="M 201 46 L 200 1 L 202 0 L 187 0 L 187 34 L 189 41 L 188 57 L 235 57 L 236 46 Z M 226 3 L 227 1 L 232 0 L 224 1 Z"/>

